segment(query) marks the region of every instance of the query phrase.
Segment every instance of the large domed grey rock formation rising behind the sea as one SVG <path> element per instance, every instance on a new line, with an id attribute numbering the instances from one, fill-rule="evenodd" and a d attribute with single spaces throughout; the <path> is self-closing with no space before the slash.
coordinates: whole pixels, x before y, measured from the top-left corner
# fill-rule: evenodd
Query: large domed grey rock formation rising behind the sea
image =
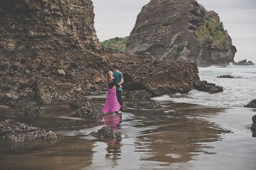
<path id="1" fill-rule="evenodd" d="M 139 13 L 125 51 L 211 66 L 234 62 L 236 48 L 218 14 L 195 0 L 151 0 Z"/>

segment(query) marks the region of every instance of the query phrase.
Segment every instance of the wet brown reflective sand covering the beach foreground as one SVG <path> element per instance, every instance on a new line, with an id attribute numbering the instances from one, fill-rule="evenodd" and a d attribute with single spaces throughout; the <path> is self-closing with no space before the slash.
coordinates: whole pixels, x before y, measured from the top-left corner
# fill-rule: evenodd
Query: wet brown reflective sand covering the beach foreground
<path id="1" fill-rule="evenodd" d="M 96 123 L 69 118 L 73 110 L 65 104 L 41 106 L 46 116 L 33 119 L 0 106 L 0 121 L 16 119 L 53 129 L 58 136 L 54 142 L 0 142 L 0 169 L 255 169 L 252 109 L 161 104 L 162 111 L 126 109 L 122 116 L 108 114 Z M 103 123 L 123 138 L 88 136 Z"/>

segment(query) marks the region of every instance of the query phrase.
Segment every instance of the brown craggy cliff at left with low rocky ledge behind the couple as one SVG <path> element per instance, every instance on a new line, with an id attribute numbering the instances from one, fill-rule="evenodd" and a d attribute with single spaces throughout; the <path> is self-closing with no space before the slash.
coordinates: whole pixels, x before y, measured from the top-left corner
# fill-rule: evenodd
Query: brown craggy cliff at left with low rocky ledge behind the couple
<path id="1" fill-rule="evenodd" d="M 3 0 L 0 8 L 0 91 L 18 87 L 0 96 L 1 103 L 50 104 L 105 93 L 113 63 L 131 91 L 188 92 L 199 82 L 195 64 L 102 48 L 90 0 Z"/>

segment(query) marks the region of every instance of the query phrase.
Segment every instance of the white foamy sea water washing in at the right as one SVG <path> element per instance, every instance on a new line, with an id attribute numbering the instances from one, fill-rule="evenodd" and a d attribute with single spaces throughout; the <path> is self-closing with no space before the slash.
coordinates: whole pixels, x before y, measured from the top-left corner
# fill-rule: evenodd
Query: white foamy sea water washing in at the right
<path id="1" fill-rule="evenodd" d="M 216 78 L 226 74 L 236 78 Z M 199 68 L 199 76 L 201 80 L 224 87 L 224 92 L 209 94 L 192 90 L 188 94 L 165 95 L 153 99 L 218 107 L 244 106 L 256 99 L 256 66 Z"/>

